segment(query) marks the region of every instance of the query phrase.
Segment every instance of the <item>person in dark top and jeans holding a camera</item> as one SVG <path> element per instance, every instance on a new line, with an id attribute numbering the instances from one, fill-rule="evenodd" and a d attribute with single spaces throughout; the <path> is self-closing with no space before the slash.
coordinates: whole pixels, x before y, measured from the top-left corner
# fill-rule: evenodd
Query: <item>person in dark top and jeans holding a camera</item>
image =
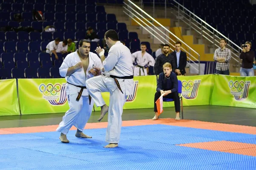
<path id="1" fill-rule="evenodd" d="M 240 76 L 254 76 L 253 59 L 254 51 L 250 50 L 252 43 L 247 41 L 242 45 L 242 52 L 240 58 L 242 59 L 242 66 L 240 68 Z"/>

